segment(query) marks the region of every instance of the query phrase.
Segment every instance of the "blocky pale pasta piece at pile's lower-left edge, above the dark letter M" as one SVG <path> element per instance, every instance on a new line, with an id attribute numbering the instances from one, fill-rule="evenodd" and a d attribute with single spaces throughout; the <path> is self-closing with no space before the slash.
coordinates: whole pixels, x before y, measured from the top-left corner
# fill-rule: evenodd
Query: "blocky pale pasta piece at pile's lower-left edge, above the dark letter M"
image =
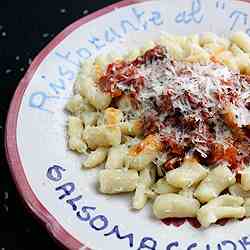
<path id="1" fill-rule="evenodd" d="M 105 169 L 100 171 L 100 192 L 104 194 L 119 194 L 132 192 L 138 181 L 136 170 Z"/>

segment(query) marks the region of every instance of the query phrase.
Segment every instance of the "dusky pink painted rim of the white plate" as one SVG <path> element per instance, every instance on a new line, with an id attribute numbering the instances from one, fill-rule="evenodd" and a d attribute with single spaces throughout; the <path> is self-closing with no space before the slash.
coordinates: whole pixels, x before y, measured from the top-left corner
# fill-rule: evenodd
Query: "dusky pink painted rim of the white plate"
<path id="1" fill-rule="evenodd" d="M 35 193 L 32 191 L 31 186 L 28 183 L 28 180 L 25 176 L 24 168 L 22 166 L 22 162 L 20 160 L 16 138 L 17 119 L 20 105 L 22 102 L 22 97 L 27 86 L 29 85 L 29 82 L 31 81 L 33 75 L 35 74 L 37 68 L 42 63 L 44 58 L 74 30 L 99 16 L 105 15 L 113 11 L 116 8 L 121 8 L 131 4 L 145 1 L 149 0 L 123 0 L 117 2 L 101 10 L 98 10 L 86 17 L 83 17 L 74 22 L 73 24 L 69 25 L 67 28 L 65 28 L 36 56 L 32 64 L 30 65 L 28 71 L 24 75 L 23 79 L 20 81 L 10 104 L 5 129 L 5 153 L 17 190 L 20 193 L 22 199 L 25 201 L 29 210 L 46 227 L 49 234 L 53 236 L 58 241 L 58 243 L 60 243 L 67 249 L 91 250 L 91 248 L 79 242 L 69 232 L 67 232 L 62 225 L 60 225 L 60 223 L 41 204 L 41 202 L 38 200 Z M 240 1 L 250 3 L 250 0 Z"/>

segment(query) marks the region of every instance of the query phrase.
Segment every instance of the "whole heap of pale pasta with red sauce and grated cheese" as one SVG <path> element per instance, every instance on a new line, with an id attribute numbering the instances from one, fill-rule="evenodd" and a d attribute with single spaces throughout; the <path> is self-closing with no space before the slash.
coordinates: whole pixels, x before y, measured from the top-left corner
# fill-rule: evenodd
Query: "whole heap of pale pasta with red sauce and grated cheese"
<path id="1" fill-rule="evenodd" d="M 104 167 L 101 193 L 131 192 L 135 210 L 151 199 L 158 219 L 250 217 L 249 86 L 243 32 L 163 34 L 98 55 L 65 107 L 68 147 L 86 154 L 83 168 Z"/>

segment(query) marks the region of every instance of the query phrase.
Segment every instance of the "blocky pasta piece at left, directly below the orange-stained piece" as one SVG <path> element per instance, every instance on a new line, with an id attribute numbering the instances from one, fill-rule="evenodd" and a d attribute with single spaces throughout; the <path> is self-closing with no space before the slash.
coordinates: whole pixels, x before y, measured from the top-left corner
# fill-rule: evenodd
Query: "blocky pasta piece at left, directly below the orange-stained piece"
<path id="1" fill-rule="evenodd" d="M 117 126 L 87 127 L 83 138 L 91 149 L 117 146 L 121 143 L 121 130 Z"/>

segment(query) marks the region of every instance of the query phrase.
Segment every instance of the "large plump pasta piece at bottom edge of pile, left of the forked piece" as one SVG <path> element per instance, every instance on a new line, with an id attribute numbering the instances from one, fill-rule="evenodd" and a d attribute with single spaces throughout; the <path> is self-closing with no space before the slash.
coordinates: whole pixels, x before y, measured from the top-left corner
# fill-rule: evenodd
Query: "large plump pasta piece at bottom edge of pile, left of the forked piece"
<path id="1" fill-rule="evenodd" d="M 153 212 L 158 219 L 196 217 L 199 208 L 200 203 L 196 199 L 179 194 L 159 195 L 153 204 Z"/>

